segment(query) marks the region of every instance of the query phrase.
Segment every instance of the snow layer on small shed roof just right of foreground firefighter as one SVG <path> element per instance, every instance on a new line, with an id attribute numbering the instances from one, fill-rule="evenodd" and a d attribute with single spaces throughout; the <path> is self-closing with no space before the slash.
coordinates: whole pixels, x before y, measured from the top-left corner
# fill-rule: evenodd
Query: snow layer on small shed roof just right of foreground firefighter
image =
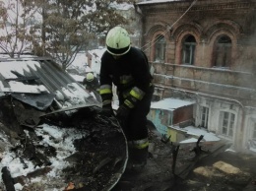
<path id="1" fill-rule="evenodd" d="M 175 110 L 176 108 L 194 104 L 192 100 L 182 100 L 178 98 L 164 98 L 157 102 L 152 102 L 151 108 L 164 109 L 164 110 Z"/>

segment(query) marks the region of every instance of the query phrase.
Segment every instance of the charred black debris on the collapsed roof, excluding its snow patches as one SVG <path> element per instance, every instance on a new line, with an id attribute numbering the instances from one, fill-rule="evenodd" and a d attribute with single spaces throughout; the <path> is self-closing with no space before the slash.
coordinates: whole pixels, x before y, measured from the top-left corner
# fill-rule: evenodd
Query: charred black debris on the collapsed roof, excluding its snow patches
<path id="1" fill-rule="evenodd" d="M 44 133 L 54 143 L 73 137 L 70 144 L 74 145 L 76 152 L 63 159 L 69 162 L 69 165 L 57 174 L 65 184 L 73 182 L 76 188 L 108 190 L 120 178 L 126 164 L 127 149 L 125 137 L 115 118 L 97 114 L 97 109 L 94 107 L 41 116 L 41 111 L 19 100 L 13 101 L 11 96 L 1 98 L 0 101 L 1 105 L 5 105 L 1 107 L 0 115 L 0 122 L 5 126 L 2 130 L 8 135 L 10 143 L 15 143 L 11 144 L 9 152 L 15 154 L 14 158 L 20 159 L 24 169 L 28 168 L 29 162 L 32 162 L 34 169 L 27 176 L 19 178 L 12 177 L 10 172 L 8 173 L 8 166 L 5 166 L 3 168 L 5 178 L 11 179 L 11 182 L 16 181 L 30 188 L 26 179 L 32 177 L 47 179 L 47 173 L 43 169 L 48 167 L 47 171 L 50 172 L 51 159 L 56 158 L 60 148 L 42 144 L 43 135 L 38 135 L 36 131 L 41 130 L 43 125 L 67 130 L 62 140 L 56 140 Z M 32 115 L 29 114 L 30 109 L 33 111 Z M 22 114 L 16 110 L 24 111 Z M 33 123 L 28 124 L 28 119 Z M 69 134 L 70 129 L 75 129 L 72 134 Z M 16 136 L 13 136 L 14 134 Z M 6 188 L 10 187 L 9 184 L 5 183 Z"/>

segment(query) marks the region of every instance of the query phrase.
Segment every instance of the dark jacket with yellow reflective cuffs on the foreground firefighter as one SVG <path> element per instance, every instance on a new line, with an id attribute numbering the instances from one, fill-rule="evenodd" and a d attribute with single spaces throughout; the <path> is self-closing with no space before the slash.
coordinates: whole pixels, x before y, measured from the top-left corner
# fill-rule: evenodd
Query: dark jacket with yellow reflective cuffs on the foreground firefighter
<path id="1" fill-rule="evenodd" d="M 133 108 L 150 91 L 152 76 L 144 52 L 131 47 L 118 59 L 105 51 L 101 57 L 99 79 L 103 106 L 110 104 L 113 83 L 117 87 L 119 103 Z"/>

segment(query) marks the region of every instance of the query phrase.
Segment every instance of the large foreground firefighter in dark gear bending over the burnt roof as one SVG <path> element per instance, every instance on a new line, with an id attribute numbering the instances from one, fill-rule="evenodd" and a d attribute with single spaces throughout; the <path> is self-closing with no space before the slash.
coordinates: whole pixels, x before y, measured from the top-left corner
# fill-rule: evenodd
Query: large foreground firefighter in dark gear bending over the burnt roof
<path id="1" fill-rule="evenodd" d="M 141 168 L 148 158 L 146 123 L 154 93 L 148 59 L 141 49 L 131 46 L 130 36 L 122 27 L 111 29 L 105 43 L 106 51 L 101 57 L 99 72 L 102 110 L 109 115 L 113 113 L 113 84 L 119 99 L 116 117 L 128 141 L 128 163 Z"/>

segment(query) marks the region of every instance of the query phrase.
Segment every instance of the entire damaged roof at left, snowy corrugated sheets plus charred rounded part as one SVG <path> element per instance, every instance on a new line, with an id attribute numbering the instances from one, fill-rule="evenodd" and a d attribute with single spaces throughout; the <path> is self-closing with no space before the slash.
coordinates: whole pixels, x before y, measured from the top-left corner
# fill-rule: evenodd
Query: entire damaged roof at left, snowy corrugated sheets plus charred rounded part
<path id="1" fill-rule="evenodd" d="M 114 117 L 50 59 L 0 60 L 0 190 L 111 190 L 128 159 Z"/>

